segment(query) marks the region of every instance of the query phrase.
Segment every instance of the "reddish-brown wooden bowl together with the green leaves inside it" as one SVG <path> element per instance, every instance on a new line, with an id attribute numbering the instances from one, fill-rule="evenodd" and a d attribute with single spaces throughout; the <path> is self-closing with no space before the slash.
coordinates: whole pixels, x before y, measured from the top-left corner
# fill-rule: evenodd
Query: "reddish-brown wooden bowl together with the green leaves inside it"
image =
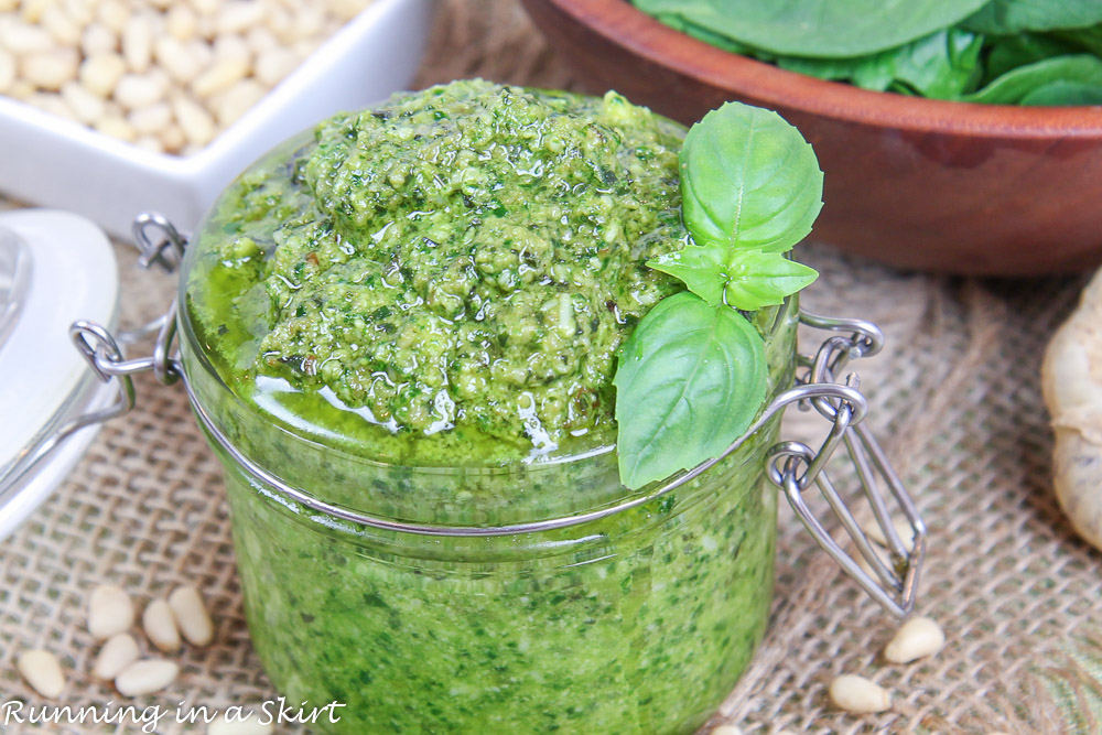
<path id="1" fill-rule="evenodd" d="M 663 20 L 677 4 L 713 19 L 758 8 L 736 19 L 742 25 L 784 12 L 765 0 L 638 2 L 661 3 Z M 732 99 L 778 110 L 814 145 L 825 172 L 821 240 L 900 268 L 953 273 L 1036 275 L 1102 261 L 1102 115 L 1083 104 L 1094 101 L 1091 69 L 1102 69 L 1089 53 L 1102 45 L 1091 41 L 1098 3 L 818 3 L 823 18 L 866 10 L 829 33 L 809 34 L 786 17 L 771 28 L 791 37 L 781 46 L 771 35 L 770 48 L 743 31 L 749 42 L 724 42 L 699 22 L 706 41 L 693 37 L 628 0 L 525 7 L 591 90 L 616 88 L 685 123 Z M 988 23 L 1036 30 L 993 33 Z M 824 44 L 842 55 L 822 56 Z M 742 46 L 784 61 L 760 61 Z M 884 91 L 851 84 L 858 77 Z"/>

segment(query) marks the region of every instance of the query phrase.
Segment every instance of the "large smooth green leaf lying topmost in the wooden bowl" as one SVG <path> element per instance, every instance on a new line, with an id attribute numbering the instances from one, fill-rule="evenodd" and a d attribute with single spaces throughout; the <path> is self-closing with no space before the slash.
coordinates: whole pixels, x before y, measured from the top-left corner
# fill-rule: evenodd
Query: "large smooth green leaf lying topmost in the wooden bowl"
<path id="1" fill-rule="evenodd" d="M 1051 1 L 1051 0 L 1038 0 Z M 844 58 L 885 51 L 953 25 L 987 0 L 635 0 L 761 51 Z"/>

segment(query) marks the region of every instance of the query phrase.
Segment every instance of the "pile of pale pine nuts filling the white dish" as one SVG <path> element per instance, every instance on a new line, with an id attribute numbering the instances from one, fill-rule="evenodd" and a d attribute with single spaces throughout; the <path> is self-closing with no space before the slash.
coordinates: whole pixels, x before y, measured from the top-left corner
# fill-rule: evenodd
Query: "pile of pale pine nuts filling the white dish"
<path id="1" fill-rule="evenodd" d="M 0 0 L 0 95 L 188 155 L 370 0 Z"/>

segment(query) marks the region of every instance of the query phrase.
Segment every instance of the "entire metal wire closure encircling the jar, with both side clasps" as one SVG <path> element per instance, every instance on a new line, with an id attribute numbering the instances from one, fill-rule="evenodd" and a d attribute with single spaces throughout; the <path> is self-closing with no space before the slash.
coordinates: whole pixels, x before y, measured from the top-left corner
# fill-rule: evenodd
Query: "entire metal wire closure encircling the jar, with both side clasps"
<path id="1" fill-rule="evenodd" d="M 155 233 L 155 235 L 151 235 Z M 158 214 L 142 214 L 134 221 L 134 239 L 141 250 L 139 262 L 148 268 L 158 264 L 171 272 L 179 266 L 184 252 L 185 238 L 164 217 Z M 184 387 L 191 400 L 192 408 L 209 436 L 225 451 L 235 463 L 257 480 L 268 485 L 283 496 L 312 510 L 326 514 L 354 523 L 388 531 L 415 533 L 420 536 L 443 537 L 483 537 L 512 536 L 532 533 L 553 529 L 569 528 L 605 518 L 635 508 L 660 498 L 689 480 L 700 476 L 715 466 L 724 457 L 736 451 L 755 432 L 761 429 L 770 419 L 784 411 L 791 403 L 801 408 L 813 408 L 833 425 L 822 446 L 814 451 L 799 442 L 782 442 L 769 452 L 769 477 L 785 490 L 789 502 L 800 520 L 815 538 L 819 544 L 833 556 L 842 568 L 854 577 L 858 584 L 888 610 L 896 615 L 906 615 L 915 603 L 915 588 L 918 583 L 918 571 L 921 566 L 926 547 L 926 527 L 918 516 L 914 502 L 906 489 L 889 466 L 884 452 L 861 423 L 867 411 L 864 396 L 857 390 L 858 381 L 855 375 L 846 377 L 844 383 L 835 380 L 850 359 L 875 354 L 883 343 L 879 329 L 858 320 L 838 320 L 800 314 L 800 322 L 820 329 L 838 332 L 850 336 L 829 337 L 819 348 L 814 357 L 800 357 L 800 375 L 796 386 L 777 396 L 763 411 L 750 428 L 732 443 L 719 457 L 703 462 L 692 469 L 685 471 L 661 485 L 651 485 L 644 493 L 633 496 L 623 502 L 599 508 L 590 512 L 537 520 L 509 526 L 476 527 L 476 526 L 432 526 L 411 523 L 390 518 L 382 518 L 360 512 L 344 506 L 321 500 L 313 495 L 293 487 L 247 457 L 215 425 L 205 408 L 196 400 L 192 386 L 184 376 L 176 353 L 173 350 L 173 339 L 176 327 L 175 302 L 169 311 L 143 327 L 122 332 L 118 338 L 107 329 L 90 322 L 76 322 L 71 334 L 77 348 L 88 360 L 91 369 L 104 381 L 119 381 L 119 400 L 112 407 L 83 417 L 77 420 L 85 426 L 97 421 L 106 421 L 122 415 L 134 404 L 132 376 L 136 372 L 152 371 L 158 380 L 171 385 L 183 379 Z M 151 357 L 127 359 L 120 345 L 129 344 L 139 337 L 156 334 L 156 343 Z M 56 445 L 65 435 L 75 429 L 58 433 L 51 440 Z M 890 545 L 890 566 L 873 550 L 867 537 L 841 499 L 827 473 L 825 464 L 834 455 L 840 444 L 844 443 L 861 480 L 862 490 L 872 505 L 877 522 L 884 530 Z M 48 451 L 48 450 L 47 450 Z M 879 489 L 882 478 L 892 495 L 903 508 L 903 512 L 914 530 L 914 542 L 908 550 L 896 532 L 892 516 L 887 509 L 885 497 Z M 852 537 L 864 559 L 868 562 L 877 579 L 868 573 L 842 550 L 822 523 L 814 517 L 803 501 L 803 491 L 814 484 L 825 496 L 831 508 Z"/>

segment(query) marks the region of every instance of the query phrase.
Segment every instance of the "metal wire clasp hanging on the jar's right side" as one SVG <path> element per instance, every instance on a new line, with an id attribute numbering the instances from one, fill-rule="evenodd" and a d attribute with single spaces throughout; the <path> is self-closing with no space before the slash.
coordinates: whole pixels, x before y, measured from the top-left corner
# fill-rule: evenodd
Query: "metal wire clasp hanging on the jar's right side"
<path id="1" fill-rule="evenodd" d="M 880 445 L 868 426 L 862 423 L 867 407 L 864 397 L 857 392 L 857 376 L 847 375 L 844 383 L 835 379 L 851 359 L 879 352 L 883 335 L 875 324 L 861 320 L 830 318 L 803 312 L 800 314 L 800 322 L 819 329 L 841 333 L 828 337 L 813 357 L 800 357 L 801 369 L 797 376 L 797 386 L 786 393 L 786 397 L 791 396 L 801 403 L 801 408 L 813 408 L 832 426 L 818 451 L 801 442 L 781 442 L 775 445 L 769 451 L 769 478 L 785 491 L 800 521 L 846 574 L 889 612 L 900 617 L 906 616 L 915 606 L 919 571 L 926 553 L 926 525 Z M 874 550 L 827 474 L 827 464 L 842 444 L 845 445 L 856 472 L 861 491 L 883 531 L 888 547 L 887 561 Z M 887 486 L 910 525 L 910 548 L 904 543 L 895 528 L 886 497 L 880 489 L 882 483 Z M 867 563 L 866 569 L 842 549 L 804 501 L 803 493 L 812 485 L 822 493 L 853 540 Z"/>

